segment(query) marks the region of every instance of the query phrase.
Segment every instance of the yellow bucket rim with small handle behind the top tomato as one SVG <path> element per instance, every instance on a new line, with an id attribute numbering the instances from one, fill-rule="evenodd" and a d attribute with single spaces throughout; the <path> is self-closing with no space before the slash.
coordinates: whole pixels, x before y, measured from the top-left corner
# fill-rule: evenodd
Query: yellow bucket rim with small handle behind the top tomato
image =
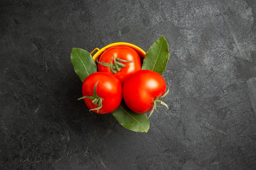
<path id="1" fill-rule="evenodd" d="M 96 62 L 97 58 L 99 58 L 99 56 L 104 52 L 106 51 L 107 49 L 113 47 L 113 46 L 129 46 L 131 47 L 132 49 L 135 49 L 135 51 L 137 51 L 137 53 L 139 54 L 139 56 L 141 57 L 141 60 L 143 60 L 145 58 L 145 55 L 146 55 L 146 52 L 143 51 L 141 48 L 139 48 L 138 46 L 135 46 L 134 44 L 130 44 L 128 42 L 115 42 L 115 43 L 112 43 L 112 44 L 109 44 L 105 47 L 103 47 L 102 49 L 98 49 L 98 48 L 95 48 L 90 54 L 92 55 L 95 51 L 97 51 L 93 56 L 93 60 L 94 62 Z"/>

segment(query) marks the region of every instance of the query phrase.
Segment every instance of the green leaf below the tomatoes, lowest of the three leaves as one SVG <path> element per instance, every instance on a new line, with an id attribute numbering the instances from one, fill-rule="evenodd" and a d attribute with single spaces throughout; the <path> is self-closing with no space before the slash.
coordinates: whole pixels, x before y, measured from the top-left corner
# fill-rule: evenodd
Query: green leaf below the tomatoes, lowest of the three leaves
<path id="1" fill-rule="evenodd" d="M 135 132 L 148 132 L 149 120 L 146 114 L 138 114 L 130 110 L 126 104 L 120 106 L 112 112 L 112 115 L 125 128 Z"/>

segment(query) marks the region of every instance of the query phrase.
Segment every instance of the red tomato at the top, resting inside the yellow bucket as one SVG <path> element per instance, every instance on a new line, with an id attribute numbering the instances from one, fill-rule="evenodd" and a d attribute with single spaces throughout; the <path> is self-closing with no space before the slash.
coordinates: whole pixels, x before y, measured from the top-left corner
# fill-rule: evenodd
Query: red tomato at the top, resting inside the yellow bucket
<path id="1" fill-rule="evenodd" d="M 112 64 L 111 66 L 110 63 Z M 101 54 L 97 68 L 99 72 L 112 73 L 123 84 L 125 79 L 132 73 L 141 70 L 141 61 L 135 49 L 129 46 L 115 46 Z"/>

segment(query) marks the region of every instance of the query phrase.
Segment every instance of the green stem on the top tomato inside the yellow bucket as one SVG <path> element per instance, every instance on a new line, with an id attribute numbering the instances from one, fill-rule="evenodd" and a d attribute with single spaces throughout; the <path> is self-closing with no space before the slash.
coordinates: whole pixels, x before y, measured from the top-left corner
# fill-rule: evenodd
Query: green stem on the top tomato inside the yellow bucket
<path id="1" fill-rule="evenodd" d="M 99 64 L 101 64 L 103 66 L 106 66 L 106 67 L 110 67 L 110 71 L 113 74 L 121 71 L 121 68 L 126 67 L 126 65 L 121 63 L 121 62 L 134 62 L 134 61 L 123 60 L 121 58 L 115 59 L 115 54 L 114 53 L 113 53 L 113 57 L 111 58 L 111 62 L 110 63 L 99 62 L 98 59 L 97 59 L 97 63 L 99 63 Z"/>

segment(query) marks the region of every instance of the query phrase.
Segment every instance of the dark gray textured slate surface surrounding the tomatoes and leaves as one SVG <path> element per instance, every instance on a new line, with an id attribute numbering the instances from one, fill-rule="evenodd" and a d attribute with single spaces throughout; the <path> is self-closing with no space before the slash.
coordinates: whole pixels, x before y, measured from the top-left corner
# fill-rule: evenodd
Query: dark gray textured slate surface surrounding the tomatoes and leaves
<path id="1" fill-rule="evenodd" d="M 255 0 L 1 0 L 1 170 L 255 170 Z M 70 62 L 164 35 L 170 93 L 148 133 L 89 113 Z"/>

